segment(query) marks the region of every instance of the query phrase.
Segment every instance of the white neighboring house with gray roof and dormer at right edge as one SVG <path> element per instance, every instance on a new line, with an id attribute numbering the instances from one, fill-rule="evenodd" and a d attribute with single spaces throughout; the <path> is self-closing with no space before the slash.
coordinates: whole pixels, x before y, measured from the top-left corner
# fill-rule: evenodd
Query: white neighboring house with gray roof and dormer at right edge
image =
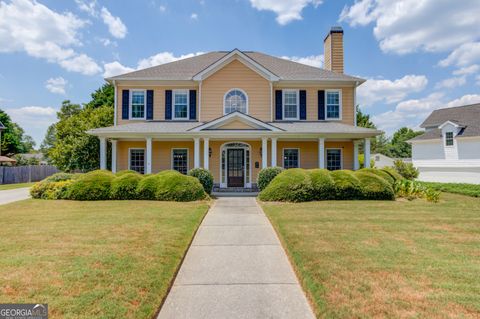
<path id="1" fill-rule="evenodd" d="M 422 181 L 480 184 L 480 104 L 433 111 L 410 140 Z"/>

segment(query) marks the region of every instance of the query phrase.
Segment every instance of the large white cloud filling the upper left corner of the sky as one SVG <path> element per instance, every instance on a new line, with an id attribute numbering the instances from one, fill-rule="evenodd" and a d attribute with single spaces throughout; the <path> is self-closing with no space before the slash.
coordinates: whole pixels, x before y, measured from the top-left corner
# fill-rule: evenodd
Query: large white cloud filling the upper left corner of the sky
<path id="1" fill-rule="evenodd" d="M 0 52 L 26 52 L 36 58 L 57 63 L 69 71 L 93 75 L 100 67 L 72 46 L 81 46 L 79 30 L 86 25 L 70 12 L 57 13 L 32 0 L 0 2 Z M 84 68 L 70 61 L 89 60 Z"/>

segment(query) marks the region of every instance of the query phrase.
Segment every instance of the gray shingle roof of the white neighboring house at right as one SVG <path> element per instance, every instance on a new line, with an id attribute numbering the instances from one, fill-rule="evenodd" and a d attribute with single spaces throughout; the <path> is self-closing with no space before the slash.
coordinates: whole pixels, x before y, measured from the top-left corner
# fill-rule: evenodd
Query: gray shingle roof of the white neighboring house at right
<path id="1" fill-rule="evenodd" d="M 458 133 L 460 137 L 480 136 L 480 104 L 450 107 L 433 111 L 420 125 L 420 127 L 432 129 L 413 138 L 412 141 L 441 138 L 442 133 L 438 127 L 447 121 L 462 127 L 462 130 Z"/>

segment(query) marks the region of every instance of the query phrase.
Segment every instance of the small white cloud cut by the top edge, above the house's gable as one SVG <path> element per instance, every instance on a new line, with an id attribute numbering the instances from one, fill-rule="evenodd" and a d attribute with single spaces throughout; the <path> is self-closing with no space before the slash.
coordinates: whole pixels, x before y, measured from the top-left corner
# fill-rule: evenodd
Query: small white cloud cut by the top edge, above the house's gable
<path id="1" fill-rule="evenodd" d="M 250 0 L 250 4 L 257 10 L 273 11 L 277 15 L 280 25 L 302 19 L 302 10 L 309 4 L 317 7 L 322 0 Z"/>

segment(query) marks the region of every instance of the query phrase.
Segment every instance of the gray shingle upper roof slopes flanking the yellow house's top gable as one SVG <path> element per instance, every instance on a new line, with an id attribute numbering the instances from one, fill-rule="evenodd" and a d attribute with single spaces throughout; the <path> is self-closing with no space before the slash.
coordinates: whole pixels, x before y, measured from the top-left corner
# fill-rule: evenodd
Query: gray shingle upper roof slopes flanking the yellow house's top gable
<path id="1" fill-rule="evenodd" d="M 191 80 L 197 73 L 203 71 L 228 53 L 227 51 L 208 52 L 191 58 L 114 76 L 108 78 L 108 80 Z M 243 51 L 243 53 L 284 81 L 364 81 L 361 78 L 316 68 L 260 52 Z"/>

